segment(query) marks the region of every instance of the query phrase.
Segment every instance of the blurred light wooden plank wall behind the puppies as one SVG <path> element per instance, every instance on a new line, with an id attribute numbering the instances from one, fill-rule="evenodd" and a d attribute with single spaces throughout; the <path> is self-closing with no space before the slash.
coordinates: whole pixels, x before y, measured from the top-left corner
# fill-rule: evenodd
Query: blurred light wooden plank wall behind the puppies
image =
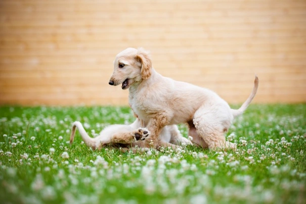
<path id="1" fill-rule="evenodd" d="M 0 104 L 127 105 L 117 53 L 230 103 L 306 101 L 305 0 L 1 0 Z"/>

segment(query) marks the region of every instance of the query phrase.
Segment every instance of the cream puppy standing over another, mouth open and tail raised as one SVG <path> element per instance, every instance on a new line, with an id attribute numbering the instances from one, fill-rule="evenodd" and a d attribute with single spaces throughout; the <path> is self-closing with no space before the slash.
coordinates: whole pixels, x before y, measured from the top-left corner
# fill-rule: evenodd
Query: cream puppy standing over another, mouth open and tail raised
<path id="1" fill-rule="evenodd" d="M 258 87 L 255 76 L 253 90 L 238 110 L 215 92 L 190 83 L 163 77 L 153 67 L 149 53 L 143 48 L 127 48 L 114 61 L 110 85 L 122 84 L 129 89 L 129 104 L 151 132 L 156 146 L 172 146 L 158 137 L 166 125 L 187 123 L 194 142 L 209 148 L 236 148 L 225 141 L 234 117 L 251 103 Z"/>

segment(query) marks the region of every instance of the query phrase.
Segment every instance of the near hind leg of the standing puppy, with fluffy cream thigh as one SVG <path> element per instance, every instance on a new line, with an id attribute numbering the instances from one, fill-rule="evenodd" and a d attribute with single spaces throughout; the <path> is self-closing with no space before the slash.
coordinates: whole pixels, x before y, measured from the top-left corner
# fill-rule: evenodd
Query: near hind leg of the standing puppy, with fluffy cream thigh
<path id="1" fill-rule="evenodd" d="M 236 145 L 225 140 L 225 133 L 233 117 L 222 105 L 201 107 L 194 115 L 193 124 L 197 134 L 208 145 L 209 149 L 236 149 Z"/>

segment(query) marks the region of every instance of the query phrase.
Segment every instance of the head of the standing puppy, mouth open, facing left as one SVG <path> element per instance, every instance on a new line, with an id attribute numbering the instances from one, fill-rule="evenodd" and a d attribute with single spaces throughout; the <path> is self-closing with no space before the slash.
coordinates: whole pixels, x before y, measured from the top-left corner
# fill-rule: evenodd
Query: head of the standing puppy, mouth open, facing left
<path id="1" fill-rule="evenodd" d="M 148 79 L 151 69 L 152 62 L 147 50 L 127 48 L 116 56 L 114 71 L 108 83 L 114 86 L 122 84 L 121 88 L 127 89 L 136 82 Z"/>

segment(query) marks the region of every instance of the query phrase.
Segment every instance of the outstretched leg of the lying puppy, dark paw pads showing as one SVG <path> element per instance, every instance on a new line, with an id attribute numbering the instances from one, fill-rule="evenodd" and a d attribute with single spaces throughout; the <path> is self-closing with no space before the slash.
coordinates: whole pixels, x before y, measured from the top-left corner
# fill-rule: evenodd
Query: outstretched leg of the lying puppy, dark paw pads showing
<path id="1" fill-rule="evenodd" d="M 111 137 L 112 143 L 130 144 L 138 140 L 145 140 L 150 135 L 147 128 L 139 128 L 133 131 L 118 132 Z"/>

